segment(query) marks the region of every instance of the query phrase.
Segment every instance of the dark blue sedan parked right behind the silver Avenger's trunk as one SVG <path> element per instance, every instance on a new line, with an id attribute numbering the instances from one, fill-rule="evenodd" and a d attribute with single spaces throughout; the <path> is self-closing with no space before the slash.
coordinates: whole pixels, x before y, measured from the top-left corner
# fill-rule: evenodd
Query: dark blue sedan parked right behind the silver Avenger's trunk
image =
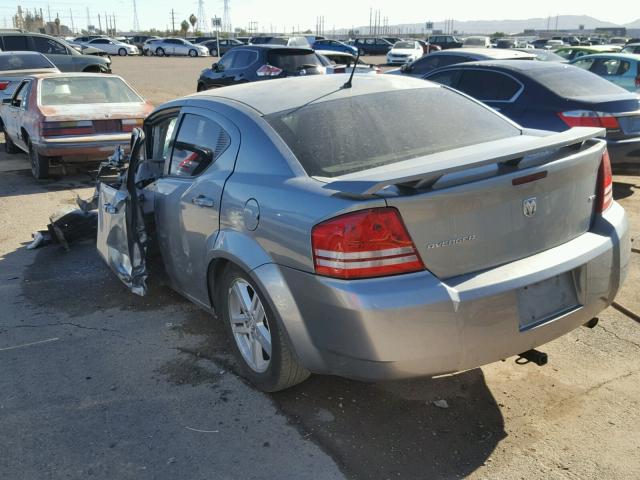
<path id="1" fill-rule="evenodd" d="M 591 72 L 555 62 L 503 60 L 455 64 L 423 78 L 460 90 L 526 128 L 605 128 L 612 164 L 640 167 L 638 97 Z"/>

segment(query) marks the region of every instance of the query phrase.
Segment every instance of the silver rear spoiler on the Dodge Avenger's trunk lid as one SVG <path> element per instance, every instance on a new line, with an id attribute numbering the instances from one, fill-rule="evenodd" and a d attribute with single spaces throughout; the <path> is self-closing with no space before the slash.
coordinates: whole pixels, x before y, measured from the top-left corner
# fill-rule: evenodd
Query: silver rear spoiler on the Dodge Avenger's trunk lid
<path id="1" fill-rule="evenodd" d="M 323 188 L 354 195 L 367 196 L 390 185 L 417 182 L 418 187 L 435 183 L 448 173 L 490 164 L 516 166 L 525 156 L 557 150 L 582 143 L 595 137 L 604 137 L 606 130 L 595 127 L 575 127 L 552 135 L 538 136 L 540 131 L 524 130 L 523 135 L 468 147 L 438 152 L 385 165 L 358 173 L 342 175 L 329 181 Z"/>

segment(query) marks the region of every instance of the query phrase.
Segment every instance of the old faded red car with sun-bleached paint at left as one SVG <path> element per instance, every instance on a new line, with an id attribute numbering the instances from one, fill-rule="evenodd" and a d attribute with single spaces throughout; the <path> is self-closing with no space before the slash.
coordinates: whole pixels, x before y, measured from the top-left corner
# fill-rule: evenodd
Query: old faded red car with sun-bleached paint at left
<path id="1" fill-rule="evenodd" d="M 37 179 L 50 167 L 96 162 L 128 147 L 153 109 L 117 75 L 91 73 L 30 75 L 2 102 L 5 148 L 26 152 Z"/>

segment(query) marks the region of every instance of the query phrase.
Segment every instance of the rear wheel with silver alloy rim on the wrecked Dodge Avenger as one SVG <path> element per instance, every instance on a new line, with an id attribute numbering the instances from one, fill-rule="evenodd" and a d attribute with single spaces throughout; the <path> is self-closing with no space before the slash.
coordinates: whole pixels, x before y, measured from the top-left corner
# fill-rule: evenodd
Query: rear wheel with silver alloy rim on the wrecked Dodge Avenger
<path id="1" fill-rule="evenodd" d="M 265 295 L 249 275 L 235 265 L 229 265 L 216 288 L 220 318 L 225 324 L 242 373 L 252 384 L 264 392 L 277 392 L 297 385 L 309 377 L 309 371 L 298 362 L 284 332 L 284 327 L 271 310 Z M 244 303 L 240 300 L 238 291 L 245 293 L 246 301 Z M 247 306 L 250 308 L 246 308 Z M 251 314 L 246 314 L 247 310 L 251 310 L 254 306 Z M 233 324 L 230 308 L 234 311 L 235 322 Z M 257 312 L 263 312 L 264 315 Z M 238 320 L 239 317 L 247 318 L 246 324 L 250 324 L 250 326 L 245 327 L 242 320 Z M 260 317 L 262 320 L 259 320 Z M 269 337 L 271 354 L 269 355 L 264 349 L 256 350 L 258 361 L 249 360 L 253 363 L 252 366 L 245 359 L 245 356 L 249 356 L 250 359 L 256 358 L 254 351 L 251 350 L 251 345 L 255 344 L 255 339 L 258 336 L 255 332 L 262 332 L 263 341 L 265 337 Z M 260 344 L 262 343 L 258 342 L 258 345 Z"/>

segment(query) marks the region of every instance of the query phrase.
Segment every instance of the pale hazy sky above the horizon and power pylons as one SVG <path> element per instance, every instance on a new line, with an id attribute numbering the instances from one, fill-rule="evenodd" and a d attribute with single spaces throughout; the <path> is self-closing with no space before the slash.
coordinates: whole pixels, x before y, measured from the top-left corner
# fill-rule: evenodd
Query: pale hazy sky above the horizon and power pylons
<path id="1" fill-rule="evenodd" d="M 11 22 L 16 6 L 42 8 L 47 17 L 47 6 L 52 17 L 58 12 L 63 23 L 70 24 L 73 14 L 76 28 L 87 23 L 86 8 L 89 7 L 91 20 L 97 24 L 97 14 L 115 14 L 118 29 L 133 26 L 133 0 L 1 0 L 0 22 Z M 316 17 L 324 15 L 325 31 L 335 28 L 369 24 L 369 8 L 380 9 L 381 16 L 387 17 L 389 24 L 419 23 L 427 20 L 440 21 L 445 18 L 456 20 L 496 20 L 547 17 L 556 14 L 590 15 L 600 20 L 627 23 L 640 17 L 638 0 L 604 2 L 595 0 L 536 0 L 536 1 L 491 1 L 458 0 L 455 2 L 426 2 L 425 0 L 230 0 L 231 21 L 234 27 L 246 28 L 250 21 L 259 23 L 261 30 L 271 26 L 282 30 L 286 26 L 315 28 Z M 176 24 L 191 13 L 198 14 L 198 1 L 183 0 L 137 0 L 140 26 L 145 28 L 166 28 L 170 25 L 170 11 L 176 11 Z M 204 0 L 207 18 L 222 16 L 223 0 Z M 4 26 L 0 23 L 0 26 Z"/>

